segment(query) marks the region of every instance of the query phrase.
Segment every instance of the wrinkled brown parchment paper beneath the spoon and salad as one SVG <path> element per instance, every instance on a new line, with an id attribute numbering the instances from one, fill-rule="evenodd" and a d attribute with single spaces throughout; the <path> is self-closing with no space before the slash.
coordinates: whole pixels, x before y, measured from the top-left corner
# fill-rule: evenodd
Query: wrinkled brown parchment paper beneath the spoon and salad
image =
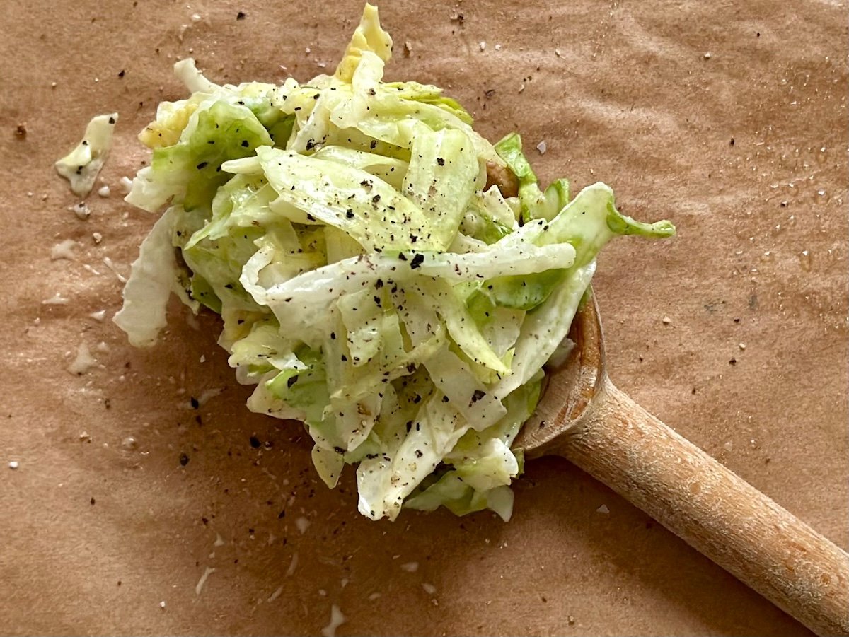
<path id="1" fill-rule="evenodd" d="M 171 64 L 303 81 L 361 9 L 0 3 L 0 633 L 319 634 L 337 605 L 338 634 L 807 634 L 559 459 L 528 464 L 507 524 L 369 522 L 351 472 L 325 489 L 298 427 L 246 410 L 213 317 L 174 304 L 149 350 L 112 325 L 104 259 L 126 275 L 155 219 L 119 180 L 148 159 L 156 103 L 184 95 Z M 846 4 L 380 9 L 389 78 L 446 87 L 489 137 L 520 131 L 544 180 L 604 180 L 677 224 L 599 260 L 611 376 L 846 548 Z M 113 110 L 113 194 L 80 221 L 53 161 Z M 75 259 L 51 260 L 69 238 Z M 80 344 L 98 366 L 75 376 Z"/>

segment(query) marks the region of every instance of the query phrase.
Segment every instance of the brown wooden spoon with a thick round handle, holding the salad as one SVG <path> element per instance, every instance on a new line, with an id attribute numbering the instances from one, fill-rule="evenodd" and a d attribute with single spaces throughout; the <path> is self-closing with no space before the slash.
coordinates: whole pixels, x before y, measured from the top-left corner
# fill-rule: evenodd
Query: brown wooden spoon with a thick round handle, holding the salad
<path id="1" fill-rule="evenodd" d="M 607 377 L 599 308 L 514 444 L 561 455 L 819 635 L 849 635 L 849 556 L 683 439 Z"/>

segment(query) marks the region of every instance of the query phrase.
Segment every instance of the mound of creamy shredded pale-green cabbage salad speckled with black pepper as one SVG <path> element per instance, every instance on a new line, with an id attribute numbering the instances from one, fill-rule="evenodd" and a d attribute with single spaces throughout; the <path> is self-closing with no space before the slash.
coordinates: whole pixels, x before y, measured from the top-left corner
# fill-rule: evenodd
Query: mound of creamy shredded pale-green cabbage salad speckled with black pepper
<path id="1" fill-rule="evenodd" d="M 674 227 L 621 215 L 603 183 L 543 191 L 518 135 L 493 145 L 438 87 L 382 81 L 391 45 L 366 5 L 334 75 L 218 86 L 175 65 L 192 94 L 140 133 L 153 159 L 127 195 L 166 210 L 115 322 L 150 346 L 171 293 L 220 314 L 250 410 L 303 422 L 329 487 L 356 465 L 363 515 L 506 521 L 511 444 L 596 254 Z"/>

